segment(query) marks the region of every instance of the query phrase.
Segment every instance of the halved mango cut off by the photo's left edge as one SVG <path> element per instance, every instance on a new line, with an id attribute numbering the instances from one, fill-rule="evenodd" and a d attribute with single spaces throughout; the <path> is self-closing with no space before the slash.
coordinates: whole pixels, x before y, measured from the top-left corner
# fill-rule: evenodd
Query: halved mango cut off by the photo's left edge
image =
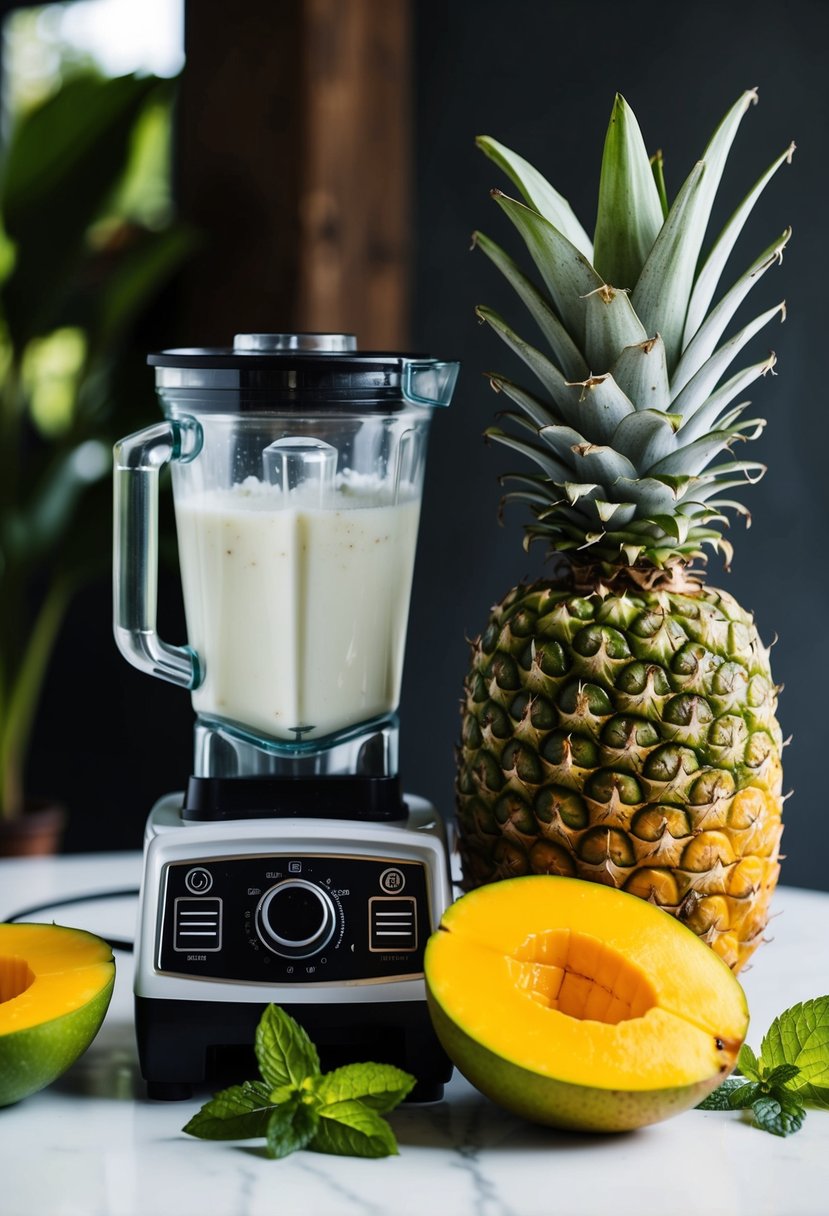
<path id="1" fill-rule="evenodd" d="M 112 950 L 94 934 L 0 924 L 0 1107 L 51 1085 L 86 1051 L 114 980 Z"/>

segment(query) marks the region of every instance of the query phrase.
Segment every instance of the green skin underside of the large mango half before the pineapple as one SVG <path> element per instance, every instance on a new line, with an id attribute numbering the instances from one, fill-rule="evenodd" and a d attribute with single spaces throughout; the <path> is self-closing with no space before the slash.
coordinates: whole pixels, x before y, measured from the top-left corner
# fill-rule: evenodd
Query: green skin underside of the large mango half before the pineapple
<path id="1" fill-rule="evenodd" d="M 534 1124 L 576 1132 L 627 1132 L 690 1110 L 721 1085 L 716 1073 L 694 1085 L 665 1090 L 599 1090 L 531 1073 L 470 1038 L 427 984 L 432 1024 L 444 1051 L 480 1093 Z"/>

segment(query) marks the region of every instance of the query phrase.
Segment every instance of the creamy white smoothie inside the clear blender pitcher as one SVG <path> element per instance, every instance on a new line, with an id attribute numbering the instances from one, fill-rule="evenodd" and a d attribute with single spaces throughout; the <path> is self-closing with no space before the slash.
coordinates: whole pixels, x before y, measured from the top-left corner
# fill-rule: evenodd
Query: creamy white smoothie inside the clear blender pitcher
<path id="1" fill-rule="evenodd" d="M 419 499 L 340 479 L 328 503 L 256 478 L 176 501 L 197 713 L 297 741 L 396 709 Z"/>

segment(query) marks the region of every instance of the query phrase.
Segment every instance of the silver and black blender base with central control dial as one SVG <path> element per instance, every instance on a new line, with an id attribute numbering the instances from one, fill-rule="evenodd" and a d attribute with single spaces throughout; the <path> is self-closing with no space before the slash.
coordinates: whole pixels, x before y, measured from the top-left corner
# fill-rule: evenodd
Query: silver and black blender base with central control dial
<path id="1" fill-rule="evenodd" d="M 407 794 L 399 823 L 193 823 L 181 805 L 181 794 L 160 799 L 145 834 L 135 1019 L 148 1097 L 253 1080 L 256 1025 L 276 1004 L 323 1071 L 394 1064 L 416 1077 L 407 1102 L 440 1100 L 452 1065 L 429 1018 L 423 952 L 452 885 L 434 807 Z"/>

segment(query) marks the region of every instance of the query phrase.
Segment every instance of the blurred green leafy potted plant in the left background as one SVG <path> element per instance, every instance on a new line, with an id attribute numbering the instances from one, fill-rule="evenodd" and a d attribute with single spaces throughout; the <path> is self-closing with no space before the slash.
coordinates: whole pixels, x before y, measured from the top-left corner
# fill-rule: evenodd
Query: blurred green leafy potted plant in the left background
<path id="1" fill-rule="evenodd" d="M 1 150 L 0 854 L 62 826 L 27 756 L 67 608 L 109 570 L 112 444 L 131 409 L 140 424 L 130 343 L 193 246 L 169 207 L 136 204 L 174 90 L 79 74 Z"/>

